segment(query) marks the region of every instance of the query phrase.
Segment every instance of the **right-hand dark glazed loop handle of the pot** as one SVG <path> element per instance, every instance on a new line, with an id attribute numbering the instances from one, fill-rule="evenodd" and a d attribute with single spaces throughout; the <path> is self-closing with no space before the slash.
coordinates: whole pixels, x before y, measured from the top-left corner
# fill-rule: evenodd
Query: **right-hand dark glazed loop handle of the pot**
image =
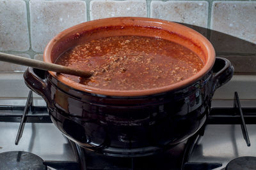
<path id="1" fill-rule="evenodd" d="M 234 74 L 234 67 L 228 59 L 216 57 L 214 66 L 212 67 L 212 94 L 218 87 L 225 85 Z"/>

